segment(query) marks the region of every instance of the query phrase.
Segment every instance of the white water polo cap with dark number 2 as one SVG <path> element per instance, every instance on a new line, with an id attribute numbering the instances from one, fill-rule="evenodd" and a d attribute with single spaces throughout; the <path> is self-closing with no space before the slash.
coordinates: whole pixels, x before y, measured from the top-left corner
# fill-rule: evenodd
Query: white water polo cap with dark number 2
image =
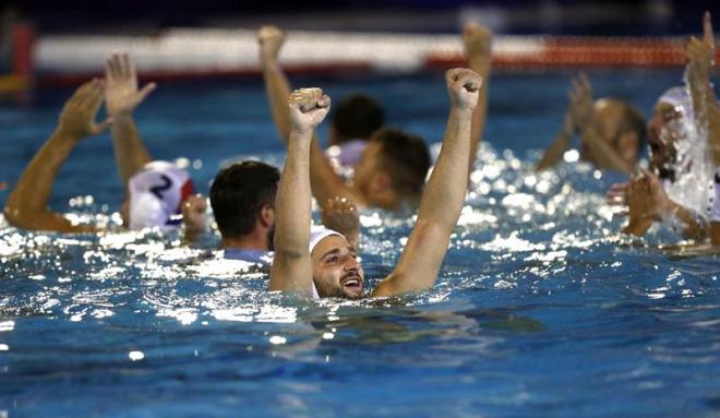
<path id="1" fill-rule="evenodd" d="M 128 182 L 130 229 L 182 223 L 182 202 L 195 192 L 188 171 L 168 162 L 147 163 Z"/>

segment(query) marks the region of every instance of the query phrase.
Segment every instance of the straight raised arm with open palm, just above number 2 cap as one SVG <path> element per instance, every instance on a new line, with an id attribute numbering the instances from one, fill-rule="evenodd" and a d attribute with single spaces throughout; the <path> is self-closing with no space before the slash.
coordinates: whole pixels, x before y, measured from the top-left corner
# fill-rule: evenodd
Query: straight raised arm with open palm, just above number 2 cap
<path id="1" fill-rule="evenodd" d="M 133 110 L 155 89 L 155 83 L 137 89 L 135 64 L 127 53 L 115 53 L 105 63 L 105 106 L 112 118 L 112 146 L 123 186 L 152 160 L 140 138 Z"/>

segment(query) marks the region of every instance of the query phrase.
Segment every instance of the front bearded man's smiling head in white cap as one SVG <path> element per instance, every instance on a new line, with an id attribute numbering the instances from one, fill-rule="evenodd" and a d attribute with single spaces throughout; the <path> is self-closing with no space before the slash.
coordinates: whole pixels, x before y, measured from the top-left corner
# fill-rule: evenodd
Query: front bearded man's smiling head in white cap
<path id="1" fill-rule="evenodd" d="M 337 231 L 313 227 L 310 232 L 312 277 L 321 298 L 364 297 L 364 272 L 357 249 Z"/>

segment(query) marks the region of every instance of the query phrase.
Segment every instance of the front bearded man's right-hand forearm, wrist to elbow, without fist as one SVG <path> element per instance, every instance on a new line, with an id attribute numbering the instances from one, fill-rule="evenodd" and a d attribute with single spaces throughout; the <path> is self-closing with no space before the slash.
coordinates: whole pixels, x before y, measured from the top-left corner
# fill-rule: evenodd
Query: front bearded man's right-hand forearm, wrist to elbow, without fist
<path id="1" fill-rule="evenodd" d="M 467 110 L 453 109 L 447 121 L 443 147 L 420 201 L 418 223 L 440 225 L 452 230 L 457 223 L 468 176 L 470 118 Z"/>

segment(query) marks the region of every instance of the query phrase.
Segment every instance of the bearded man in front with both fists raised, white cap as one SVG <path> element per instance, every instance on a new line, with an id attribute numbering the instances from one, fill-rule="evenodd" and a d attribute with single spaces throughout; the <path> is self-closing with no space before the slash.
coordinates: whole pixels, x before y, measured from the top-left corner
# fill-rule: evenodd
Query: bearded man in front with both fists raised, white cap
<path id="1" fill-rule="evenodd" d="M 470 159 L 472 112 L 482 79 L 470 70 L 446 72 L 451 112 L 443 147 L 420 201 L 418 218 L 388 277 L 372 296 L 393 296 L 432 287 L 463 207 Z M 288 98 L 288 156 L 276 201 L 275 260 L 269 289 L 319 297 L 364 296 L 364 272 L 356 249 L 338 232 L 311 230 L 310 166 L 314 129 L 331 99 L 319 88 Z"/>

